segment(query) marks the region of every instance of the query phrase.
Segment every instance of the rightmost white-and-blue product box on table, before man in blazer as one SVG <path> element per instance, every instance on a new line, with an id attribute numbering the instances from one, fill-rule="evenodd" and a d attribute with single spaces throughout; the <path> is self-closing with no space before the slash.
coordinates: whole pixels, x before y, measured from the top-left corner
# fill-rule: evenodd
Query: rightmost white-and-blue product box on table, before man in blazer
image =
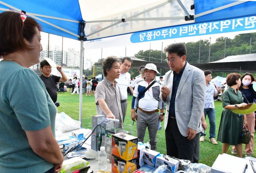
<path id="1" fill-rule="evenodd" d="M 166 172 L 172 172 L 175 173 L 178 171 L 179 167 L 179 161 L 176 159 L 172 159 L 168 155 L 160 154 L 156 158 L 156 168 L 158 168 L 160 165 L 166 165 Z"/>

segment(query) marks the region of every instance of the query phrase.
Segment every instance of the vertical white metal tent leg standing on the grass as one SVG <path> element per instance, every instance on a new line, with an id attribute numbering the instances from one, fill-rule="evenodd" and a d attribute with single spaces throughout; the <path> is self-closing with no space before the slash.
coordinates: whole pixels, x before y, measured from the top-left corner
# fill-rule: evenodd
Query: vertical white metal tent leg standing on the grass
<path id="1" fill-rule="evenodd" d="M 80 41 L 80 74 L 79 74 L 79 78 L 80 78 L 80 88 L 79 88 L 79 121 L 81 122 L 81 127 L 82 127 L 82 109 L 83 109 L 83 62 L 84 62 L 84 41 L 81 40 Z"/>

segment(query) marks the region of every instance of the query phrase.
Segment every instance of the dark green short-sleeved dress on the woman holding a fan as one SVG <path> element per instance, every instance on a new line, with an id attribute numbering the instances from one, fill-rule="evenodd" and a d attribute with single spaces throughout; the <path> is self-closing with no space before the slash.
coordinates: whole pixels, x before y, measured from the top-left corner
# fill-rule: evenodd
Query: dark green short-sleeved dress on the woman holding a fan
<path id="1" fill-rule="evenodd" d="M 222 106 L 235 105 L 243 103 L 241 91 L 229 87 L 222 94 Z M 243 116 L 239 116 L 229 109 L 224 109 L 221 115 L 218 141 L 237 145 L 241 143 L 241 133 L 243 129 Z"/>

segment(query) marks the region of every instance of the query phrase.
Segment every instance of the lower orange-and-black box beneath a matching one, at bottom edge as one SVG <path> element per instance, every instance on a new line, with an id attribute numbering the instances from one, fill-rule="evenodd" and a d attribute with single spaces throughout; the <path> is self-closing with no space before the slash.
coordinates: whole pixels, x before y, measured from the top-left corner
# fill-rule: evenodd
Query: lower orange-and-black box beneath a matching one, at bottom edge
<path id="1" fill-rule="evenodd" d="M 112 154 L 112 172 L 113 173 L 131 173 L 137 169 L 136 158 L 126 161 Z"/>

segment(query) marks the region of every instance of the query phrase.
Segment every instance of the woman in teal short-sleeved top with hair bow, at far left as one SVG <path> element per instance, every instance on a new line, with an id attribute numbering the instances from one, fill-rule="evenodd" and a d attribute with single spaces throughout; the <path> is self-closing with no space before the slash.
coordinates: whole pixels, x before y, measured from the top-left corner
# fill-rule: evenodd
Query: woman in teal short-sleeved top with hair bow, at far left
<path id="1" fill-rule="evenodd" d="M 0 21 L 0 172 L 58 172 L 57 109 L 29 69 L 40 62 L 41 27 L 23 12 L 3 12 Z"/>

